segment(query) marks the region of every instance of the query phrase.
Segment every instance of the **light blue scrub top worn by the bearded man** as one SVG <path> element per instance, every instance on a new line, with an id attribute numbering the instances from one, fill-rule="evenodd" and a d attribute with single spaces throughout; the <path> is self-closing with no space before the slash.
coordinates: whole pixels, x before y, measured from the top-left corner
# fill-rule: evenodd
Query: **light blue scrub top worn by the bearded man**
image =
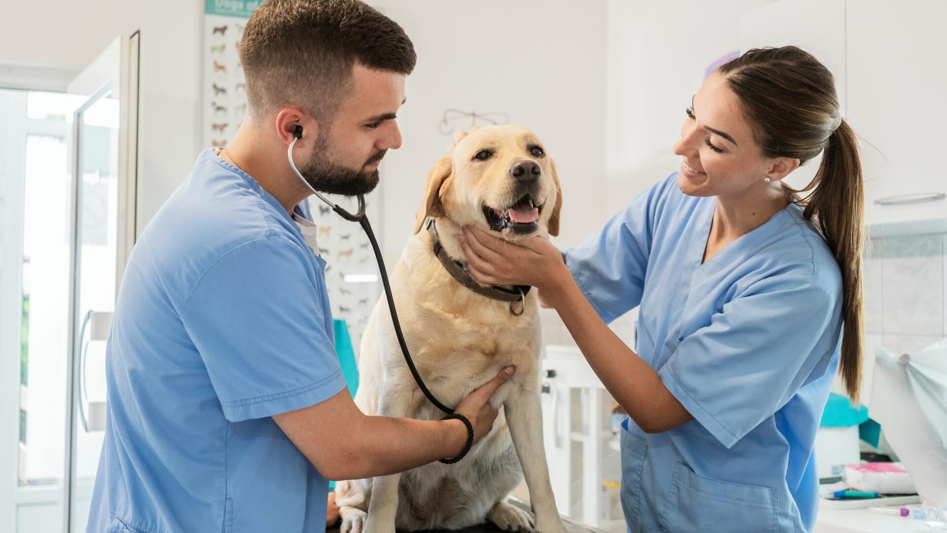
<path id="1" fill-rule="evenodd" d="M 324 267 L 255 179 L 198 157 L 125 270 L 87 531 L 325 530 L 328 481 L 271 418 L 345 387 Z"/>

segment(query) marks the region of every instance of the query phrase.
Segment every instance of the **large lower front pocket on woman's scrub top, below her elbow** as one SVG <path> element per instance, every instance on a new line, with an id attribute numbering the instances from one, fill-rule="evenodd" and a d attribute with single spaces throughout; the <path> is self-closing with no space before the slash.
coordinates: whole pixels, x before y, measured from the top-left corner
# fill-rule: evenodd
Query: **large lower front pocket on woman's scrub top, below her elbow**
<path id="1" fill-rule="evenodd" d="M 701 477 L 678 462 L 664 510 L 667 531 L 777 532 L 779 491 Z"/>

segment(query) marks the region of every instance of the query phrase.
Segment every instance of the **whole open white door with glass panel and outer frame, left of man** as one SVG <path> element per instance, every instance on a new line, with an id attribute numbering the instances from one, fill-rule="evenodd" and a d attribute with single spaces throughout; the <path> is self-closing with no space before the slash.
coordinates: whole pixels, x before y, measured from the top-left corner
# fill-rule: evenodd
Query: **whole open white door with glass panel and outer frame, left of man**
<path id="1" fill-rule="evenodd" d="M 134 244 L 137 38 L 117 38 L 69 86 L 88 99 L 73 116 L 65 531 L 88 521 L 106 426 L 105 343 Z"/>

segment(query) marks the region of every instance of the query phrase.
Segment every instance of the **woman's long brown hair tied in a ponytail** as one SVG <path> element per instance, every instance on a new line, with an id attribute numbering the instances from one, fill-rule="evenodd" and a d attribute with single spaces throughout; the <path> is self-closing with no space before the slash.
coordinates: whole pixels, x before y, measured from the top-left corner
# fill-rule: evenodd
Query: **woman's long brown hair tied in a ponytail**
<path id="1" fill-rule="evenodd" d="M 862 384 L 862 239 L 865 209 L 858 142 L 839 112 L 835 81 L 824 64 L 796 46 L 748 50 L 719 68 L 753 126 L 763 156 L 800 164 L 823 152 L 812 183 L 782 187 L 805 206 L 842 271 L 839 372 L 852 401 Z M 811 193 L 809 193 L 811 191 Z M 809 193 L 805 197 L 800 193 Z"/>

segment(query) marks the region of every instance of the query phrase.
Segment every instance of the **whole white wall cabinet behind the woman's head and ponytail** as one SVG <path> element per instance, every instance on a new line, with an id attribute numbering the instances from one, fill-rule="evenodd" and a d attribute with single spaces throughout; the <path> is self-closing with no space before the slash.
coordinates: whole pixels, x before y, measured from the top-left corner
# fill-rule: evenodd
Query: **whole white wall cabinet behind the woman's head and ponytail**
<path id="1" fill-rule="evenodd" d="M 740 48 L 800 46 L 835 77 L 860 137 L 868 225 L 947 218 L 947 2 L 780 0 L 742 15 Z M 787 180 L 812 180 L 820 157 Z"/>

